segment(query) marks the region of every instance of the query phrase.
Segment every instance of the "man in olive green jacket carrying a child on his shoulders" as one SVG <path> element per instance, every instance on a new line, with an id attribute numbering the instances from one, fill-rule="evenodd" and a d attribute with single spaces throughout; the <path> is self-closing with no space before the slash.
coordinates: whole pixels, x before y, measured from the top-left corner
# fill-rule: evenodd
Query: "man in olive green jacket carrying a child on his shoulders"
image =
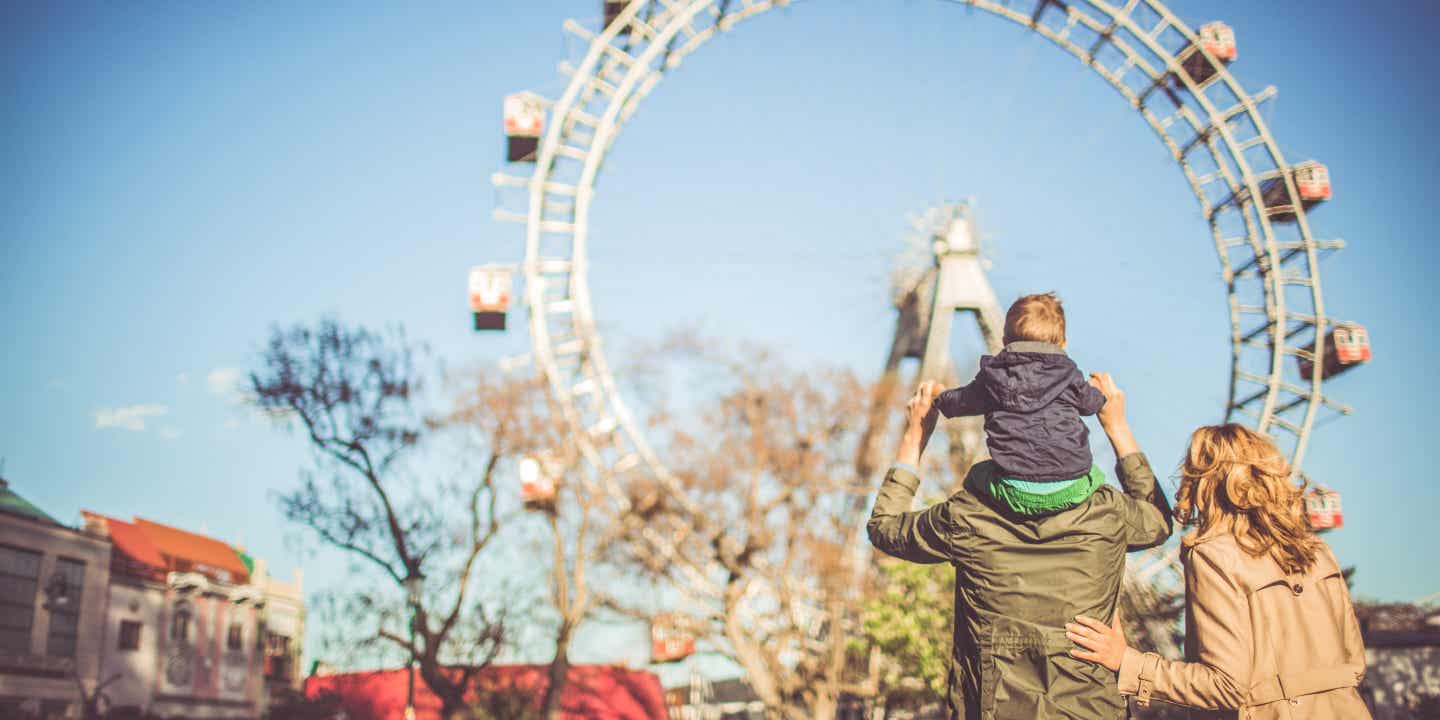
<path id="1" fill-rule="evenodd" d="M 901 560 L 955 567 L 952 719 L 1125 717 L 1115 672 L 1070 655 L 1066 622 L 1112 618 L 1125 553 L 1164 543 L 1172 523 L 1125 419 L 1125 393 L 1104 373 L 1092 377 L 1106 396 L 1099 419 L 1125 491 L 1102 485 L 1079 507 L 1044 517 L 1012 514 L 984 494 L 998 474 L 991 461 L 976 464 L 949 500 L 910 511 L 940 386 L 922 383 L 910 399 L 896 465 L 870 514 L 870 541 Z"/>

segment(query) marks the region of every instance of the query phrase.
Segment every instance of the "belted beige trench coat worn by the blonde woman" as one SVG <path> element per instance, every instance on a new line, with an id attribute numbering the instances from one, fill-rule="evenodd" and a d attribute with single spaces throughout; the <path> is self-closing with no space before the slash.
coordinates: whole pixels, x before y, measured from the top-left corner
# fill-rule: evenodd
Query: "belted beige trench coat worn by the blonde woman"
<path id="1" fill-rule="evenodd" d="M 1181 560 L 1187 661 L 1128 649 L 1122 694 L 1207 719 L 1369 717 L 1356 690 L 1365 647 L 1329 546 L 1305 575 L 1246 553 L 1230 533 L 1187 539 Z"/>

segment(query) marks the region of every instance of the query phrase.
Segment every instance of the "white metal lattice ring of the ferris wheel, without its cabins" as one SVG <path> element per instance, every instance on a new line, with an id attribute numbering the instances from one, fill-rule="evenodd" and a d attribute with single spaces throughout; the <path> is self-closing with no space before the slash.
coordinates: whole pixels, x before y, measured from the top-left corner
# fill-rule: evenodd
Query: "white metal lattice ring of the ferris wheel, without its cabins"
<path id="1" fill-rule="evenodd" d="M 1325 312 L 1318 259 L 1341 240 L 1315 239 L 1292 166 L 1259 108 L 1274 88 L 1246 92 L 1197 32 L 1156 0 L 942 0 L 1028 27 L 1093 69 L 1145 120 L 1200 202 L 1227 288 L 1231 376 L 1225 418 L 1274 436 L 1300 467 L 1322 408 L 1322 374 L 1302 379 L 1292 357 L 1323 357 Z M 786 0 L 634 0 L 605 27 L 576 20 L 586 43 L 562 63 L 564 92 L 549 104 L 546 134 L 528 177 L 497 174 L 517 203 L 495 210 L 526 226 L 523 274 L 533 359 L 575 428 L 586 459 L 628 507 L 632 472 L 680 490 L 616 389 L 596 331 L 589 288 L 590 209 L 606 154 L 660 81 L 707 40 Z M 1187 69 L 1201 63 L 1207 72 Z M 1276 203 L 1276 190 L 1287 203 Z M 1266 192 L 1272 200 L 1266 200 Z M 645 528 L 658 547 L 664 533 Z M 1166 563 L 1168 564 L 1168 563 Z M 691 569 L 697 586 L 704 569 Z"/>

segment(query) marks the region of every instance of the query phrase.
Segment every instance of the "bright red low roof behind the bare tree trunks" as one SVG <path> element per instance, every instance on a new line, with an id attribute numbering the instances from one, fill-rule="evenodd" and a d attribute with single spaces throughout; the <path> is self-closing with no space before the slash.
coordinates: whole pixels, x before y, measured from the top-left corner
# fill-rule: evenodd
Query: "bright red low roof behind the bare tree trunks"
<path id="1" fill-rule="evenodd" d="M 494 703 L 518 701 L 539 708 L 549 684 L 546 665 L 491 665 L 480 671 L 475 685 Z M 341 672 L 305 678 L 305 697 L 334 697 L 350 720 L 390 720 L 405 711 L 405 670 Z M 478 701 L 478 697 L 472 696 Z M 487 703 L 480 703 L 487 704 Z M 511 706 L 513 707 L 513 706 Z M 504 710 L 494 707 L 501 716 Z M 441 701 L 416 677 L 415 716 L 439 720 Z M 560 696 L 563 720 L 667 720 L 660 678 L 642 670 L 615 665 L 572 665 Z"/>

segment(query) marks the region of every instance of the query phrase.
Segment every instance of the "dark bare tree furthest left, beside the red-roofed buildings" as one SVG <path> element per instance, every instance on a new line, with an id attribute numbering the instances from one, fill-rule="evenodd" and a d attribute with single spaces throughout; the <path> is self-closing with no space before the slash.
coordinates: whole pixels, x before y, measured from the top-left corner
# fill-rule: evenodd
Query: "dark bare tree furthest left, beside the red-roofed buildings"
<path id="1" fill-rule="evenodd" d="M 462 413 L 478 467 L 422 481 L 422 441 L 452 426 L 425 416 L 426 363 L 400 330 L 323 320 L 274 330 L 251 390 L 255 406 L 302 429 L 314 451 L 314 471 L 281 498 L 285 517 L 379 580 L 346 590 L 346 629 L 357 645 L 415 658 L 454 717 L 467 713 L 477 674 L 510 629 L 507 608 L 477 596 L 482 556 L 505 521 L 497 477 L 536 446 L 547 419 L 533 382 L 481 377 Z"/>

